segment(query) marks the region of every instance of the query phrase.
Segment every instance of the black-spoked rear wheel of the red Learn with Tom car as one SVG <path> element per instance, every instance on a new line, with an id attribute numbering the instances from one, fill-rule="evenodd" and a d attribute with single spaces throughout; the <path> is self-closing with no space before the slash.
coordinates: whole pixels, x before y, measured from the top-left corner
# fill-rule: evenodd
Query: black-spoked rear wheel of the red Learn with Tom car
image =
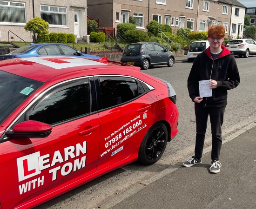
<path id="1" fill-rule="evenodd" d="M 145 165 L 157 162 L 162 157 L 167 141 L 168 131 L 165 124 L 154 124 L 141 142 L 138 161 Z"/>

